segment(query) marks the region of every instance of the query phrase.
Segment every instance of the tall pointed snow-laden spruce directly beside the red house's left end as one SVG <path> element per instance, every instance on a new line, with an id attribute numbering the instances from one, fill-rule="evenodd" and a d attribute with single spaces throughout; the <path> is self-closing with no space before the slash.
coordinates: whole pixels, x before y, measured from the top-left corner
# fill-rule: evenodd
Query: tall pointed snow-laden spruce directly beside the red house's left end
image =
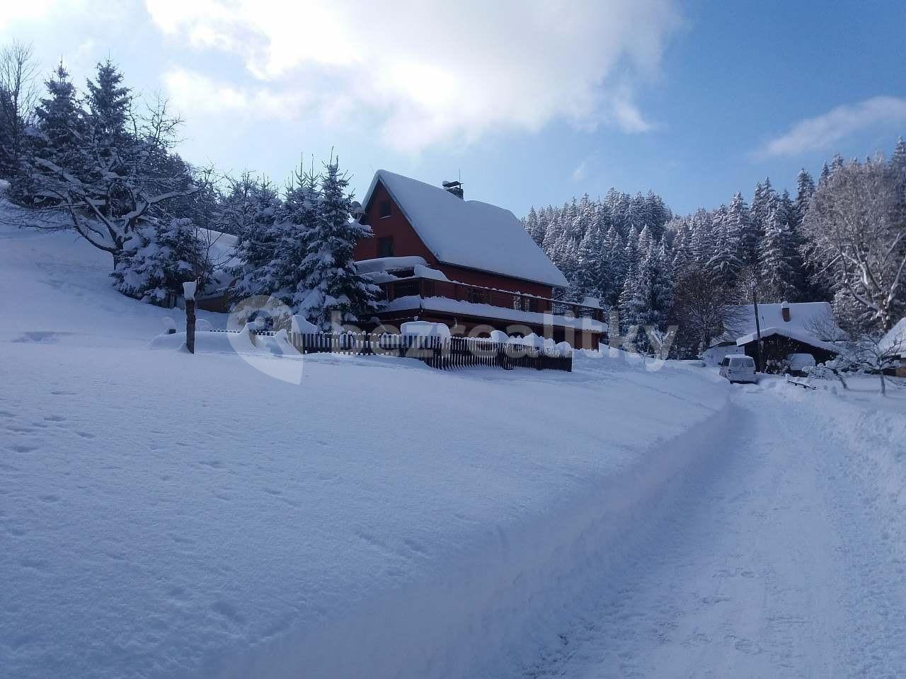
<path id="1" fill-rule="evenodd" d="M 323 330 L 333 323 L 356 322 L 377 310 L 378 286 L 362 276 L 352 259 L 359 238 L 371 228 L 352 218 L 354 204 L 349 179 L 340 173 L 339 160 L 324 166 L 317 218 L 307 232 L 307 253 L 302 281 L 293 307 Z"/>

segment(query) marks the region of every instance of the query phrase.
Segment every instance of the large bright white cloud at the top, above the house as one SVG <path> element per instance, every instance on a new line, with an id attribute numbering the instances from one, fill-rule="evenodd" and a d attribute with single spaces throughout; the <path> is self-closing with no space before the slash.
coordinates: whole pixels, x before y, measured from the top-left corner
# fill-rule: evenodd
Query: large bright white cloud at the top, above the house
<path id="1" fill-rule="evenodd" d="M 365 112 L 392 148 L 469 142 L 492 129 L 651 129 L 635 103 L 679 26 L 676 0 L 146 0 L 198 50 L 236 54 L 279 98 Z M 224 94 L 235 109 L 235 91 Z M 182 94 L 190 92 L 182 91 Z M 213 92 L 217 96 L 217 92 Z M 178 104 L 178 92 L 171 92 Z M 195 103 L 203 103 L 198 97 Z"/>

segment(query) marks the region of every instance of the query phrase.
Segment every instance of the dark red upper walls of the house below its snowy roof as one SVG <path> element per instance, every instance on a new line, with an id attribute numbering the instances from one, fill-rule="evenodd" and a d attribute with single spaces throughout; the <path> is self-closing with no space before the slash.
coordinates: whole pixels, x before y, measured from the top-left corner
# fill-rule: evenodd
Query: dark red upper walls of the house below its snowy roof
<path id="1" fill-rule="evenodd" d="M 381 217 L 381 202 L 390 201 L 390 216 Z M 429 266 L 439 269 L 450 281 L 479 285 L 483 288 L 496 288 L 507 292 L 525 292 L 538 297 L 550 297 L 553 292 L 550 285 L 538 282 L 521 281 L 516 278 L 467 269 L 453 264 L 441 264 L 428 246 L 419 238 L 419 234 L 402 214 L 399 206 L 390 198 L 387 189 L 379 182 L 371 196 L 371 204 L 365 206 L 365 224 L 371 226 L 373 236 L 361 238 L 355 244 L 353 257 L 356 260 L 374 259 L 378 256 L 378 238 L 393 238 L 393 256 L 406 257 L 418 255 L 424 257 Z M 480 244 L 476 244 L 480 247 Z"/>

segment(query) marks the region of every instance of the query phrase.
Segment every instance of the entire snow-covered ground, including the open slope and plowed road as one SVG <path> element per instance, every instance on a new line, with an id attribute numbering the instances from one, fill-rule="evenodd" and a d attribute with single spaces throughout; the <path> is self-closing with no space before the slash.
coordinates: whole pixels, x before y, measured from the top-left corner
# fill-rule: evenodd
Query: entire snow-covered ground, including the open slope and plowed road
<path id="1" fill-rule="evenodd" d="M 147 349 L 172 312 L 109 269 L 0 225 L 0 674 L 906 674 L 901 392 L 588 357 L 290 384 Z"/>

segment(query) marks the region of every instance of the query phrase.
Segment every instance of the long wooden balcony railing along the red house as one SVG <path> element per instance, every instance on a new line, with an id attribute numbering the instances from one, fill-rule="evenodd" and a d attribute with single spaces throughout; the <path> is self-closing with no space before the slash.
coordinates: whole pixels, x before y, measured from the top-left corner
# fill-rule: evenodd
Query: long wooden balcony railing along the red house
<path id="1" fill-rule="evenodd" d="M 399 281 L 382 282 L 381 289 L 387 295 L 387 301 L 411 296 L 445 297 L 448 300 L 471 301 L 503 309 L 552 313 L 555 316 L 573 318 L 585 317 L 604 322 L 603 311 L 598 307 L 585 306 L 571 301 L 552 300 L 522 292 L 482 288 L 467 283 L 437 281 L 431 278 L 404 278 Z"/>

